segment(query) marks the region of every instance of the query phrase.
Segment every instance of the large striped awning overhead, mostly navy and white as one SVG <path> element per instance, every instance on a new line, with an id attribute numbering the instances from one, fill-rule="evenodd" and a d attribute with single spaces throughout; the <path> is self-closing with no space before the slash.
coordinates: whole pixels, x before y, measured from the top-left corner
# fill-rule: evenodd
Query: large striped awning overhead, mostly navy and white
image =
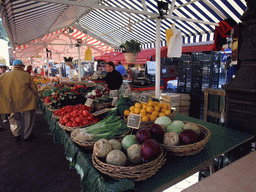
<path id="1" fill-rule="evenodd" d="M 172 24 L 182 31 L 184 44 L 212 41 L 220 21 L 232 18 L 240 22 L 246 9 L 245 0 L 165 2 L 169 6 L 161 19 L 161 46 L 166 46 L 165 30 Z M 157 0 L 2 0 L 0 8 L 14 47 L 57 38 L 69 27 L 77 29 L 71 36 L 81 37 L 85 44 L 92 42 L 100 51 L 118 49 L 130 39 L 141 42 L 142 49 L 155 47 Z"/>

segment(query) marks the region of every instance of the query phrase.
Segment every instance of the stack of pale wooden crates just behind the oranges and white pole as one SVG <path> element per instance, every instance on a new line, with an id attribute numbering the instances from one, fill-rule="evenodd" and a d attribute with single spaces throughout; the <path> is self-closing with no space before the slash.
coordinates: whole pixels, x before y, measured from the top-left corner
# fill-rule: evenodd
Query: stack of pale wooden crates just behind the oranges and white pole
<path id="1" fill-rule="evenodd" d="M 161 103 L 170 104 L 176 113 L 189 116 L 190 96 L 185 93 L 162 93 Z"/>

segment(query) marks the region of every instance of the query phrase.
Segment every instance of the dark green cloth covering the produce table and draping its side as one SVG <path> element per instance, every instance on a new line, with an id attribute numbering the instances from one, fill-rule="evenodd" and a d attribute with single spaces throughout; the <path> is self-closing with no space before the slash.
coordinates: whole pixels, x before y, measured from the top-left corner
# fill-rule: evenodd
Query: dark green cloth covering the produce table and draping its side
<path id="1" fill-rule="evenodd" d="M 76 168 L 81 175 L 83 191 L 90 192 L 120 192 L 133 189 L 136 191 L 153 191 L 160 186 L 185 175 L 187 172 L 205 162 L 218 157 L 220 154 L 230 151 L 242 143 L 253 138 L 252 135 L 241 133 L 233 129 L 211 124 L 199 119 L 176 114 L 176 120 L 190 121 L 201 124 L 211 131 L 211 138 L 205 148 L 197 155 L 188 157 L 168 156 L 164 166 L 153 177 L 142 181 L 134 182 L 129 179 L 114 180 L 111 177 L 102 175 L 97 171 L 91 161 L 91 152 L 78 147 L 70 134 L 58 126 L 58 121 L 52 118 L 52 112 L 41 104 L 44 116 L 50 130 L 54 135 L 54 141 L 63 144 L 65 155 L 71 161 L 70 167 Z"/>

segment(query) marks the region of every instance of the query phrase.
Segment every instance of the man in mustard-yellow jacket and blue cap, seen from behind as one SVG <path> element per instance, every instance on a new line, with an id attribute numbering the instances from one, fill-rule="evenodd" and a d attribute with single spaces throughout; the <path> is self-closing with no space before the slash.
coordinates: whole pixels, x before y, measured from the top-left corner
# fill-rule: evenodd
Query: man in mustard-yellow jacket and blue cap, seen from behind
<path id="1" fill-rule="evenodd" d="M 13 66 L 12 71 L 0 76 L 0 114 L 11 114 L 9 123 L 15 140 L 22 138 L 24 124 L 24 139 L 29 141 L 37 108 L 37 86 L 33 77 L 22 69 L 21 60 L 14 60 Z"/>

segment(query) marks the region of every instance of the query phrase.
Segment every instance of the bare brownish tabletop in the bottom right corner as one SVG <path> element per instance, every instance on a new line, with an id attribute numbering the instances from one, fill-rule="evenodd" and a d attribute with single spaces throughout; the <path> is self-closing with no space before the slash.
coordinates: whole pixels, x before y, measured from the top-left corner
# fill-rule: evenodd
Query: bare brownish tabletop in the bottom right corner
<path id="1" fill-rule="evenodd" d="M 242 157 L 184 192 L 255 191 L 256 151 Z"/>

